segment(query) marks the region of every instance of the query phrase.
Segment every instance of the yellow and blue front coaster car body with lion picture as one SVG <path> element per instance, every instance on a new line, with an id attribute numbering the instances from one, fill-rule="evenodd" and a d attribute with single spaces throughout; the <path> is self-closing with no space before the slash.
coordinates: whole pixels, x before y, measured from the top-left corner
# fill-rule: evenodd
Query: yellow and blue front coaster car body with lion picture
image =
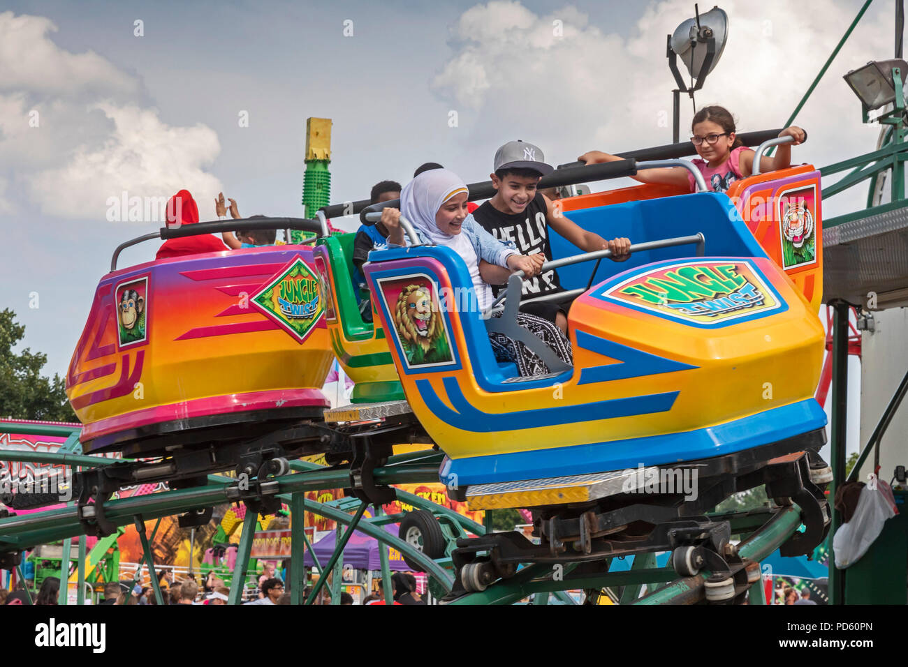
<path id="1" fill-rule="evenodd" d="M 632 222 L 636 241 L 702 231 L 706 257 L 687 246 L 603 262 L 612 275 L 568 316 L 574 368 L 548 377 L 510 378 L 498 366 L 479 314 L 460 308 L 469 274 L 449 249 L 370 255 L 366 273 L 404 391 L 450 459 L 443 480 L 469 486 L 689 461 L 824 426 L 813 398 L 822 325 L 725 195 L 571 217 L 586 218 L 587 229 L 615 222 L 615 235 Z M 394 319 L 408 289 L 421 290 L 440 320 L 418 344 Z"/>

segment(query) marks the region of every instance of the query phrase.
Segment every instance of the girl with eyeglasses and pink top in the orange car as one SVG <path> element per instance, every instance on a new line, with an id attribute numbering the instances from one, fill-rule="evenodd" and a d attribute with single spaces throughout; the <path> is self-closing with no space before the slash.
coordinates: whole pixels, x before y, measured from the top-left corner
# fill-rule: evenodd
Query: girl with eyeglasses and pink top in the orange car
<path id="1" fill-rule="evenodd" d="M 715 192 L 725 192 L 738 179 L 750 176 L 754 171 L 754 151 L 747 148 L 735 136 L 735 119 L 722 106 L 706 106 L 694 115 L 691 123 L 694 144 L 699 158 L 694 159 L 697 169 L 703 172 L 706 187 Z M 775 172 L 791 165 L 792 146 L 804 142 L 806 135 L 800 127 L 785 128 L 779 132 L 780 137 L 790 136 L 792 143 L 776 146 L 775 155 L 760 160 L 760 172 Z M 617 155 L 607 152 L 590 151 L 577 158 L 580 162 L 597 164 L 622 160 Z M 669 185 L 686 185 L 691 192 L 696 191 L 694 174 L 681 167 L 662 169 L 645 169 L 632 176 L 644 183 L 666 183 Z"/>

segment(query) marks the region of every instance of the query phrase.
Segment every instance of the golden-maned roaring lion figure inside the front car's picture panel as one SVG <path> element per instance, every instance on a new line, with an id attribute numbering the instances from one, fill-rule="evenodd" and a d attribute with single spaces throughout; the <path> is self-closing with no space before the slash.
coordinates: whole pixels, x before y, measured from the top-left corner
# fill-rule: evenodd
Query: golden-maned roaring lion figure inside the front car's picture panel
<path id="1" fill-rule="evenodd" d="M 410 366 L 451 361 L 444 321 L 432 299 L 431 287 L 410 284 L 400 289 L 393 318 Z"/>

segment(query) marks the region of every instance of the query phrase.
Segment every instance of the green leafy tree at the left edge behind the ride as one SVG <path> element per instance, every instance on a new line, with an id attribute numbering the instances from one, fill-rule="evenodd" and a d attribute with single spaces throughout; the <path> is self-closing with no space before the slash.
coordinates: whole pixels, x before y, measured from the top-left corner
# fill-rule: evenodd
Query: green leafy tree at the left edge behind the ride
<path id="1" fill-rule="evenodd" d="M 41 375 L 47 355 L 30 348 L 13 351 L 24 337 L 25 326 L 15 322 L 15 312 L 0 311 L 0 417 L 78 421 L 66 400 L 63 378 Z"/>

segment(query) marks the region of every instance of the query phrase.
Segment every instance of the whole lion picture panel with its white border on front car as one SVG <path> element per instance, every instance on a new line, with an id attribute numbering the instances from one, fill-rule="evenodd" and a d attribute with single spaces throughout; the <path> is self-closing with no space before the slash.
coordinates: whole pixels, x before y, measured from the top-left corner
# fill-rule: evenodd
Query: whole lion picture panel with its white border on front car
<path id="1" fill-rule="evenodd" d="M 379 280 L 381 299 L 390 313 L 408 368 L 454 363 L 446 322 L 439 309 L 435 282 L 425 274 Z"/>

